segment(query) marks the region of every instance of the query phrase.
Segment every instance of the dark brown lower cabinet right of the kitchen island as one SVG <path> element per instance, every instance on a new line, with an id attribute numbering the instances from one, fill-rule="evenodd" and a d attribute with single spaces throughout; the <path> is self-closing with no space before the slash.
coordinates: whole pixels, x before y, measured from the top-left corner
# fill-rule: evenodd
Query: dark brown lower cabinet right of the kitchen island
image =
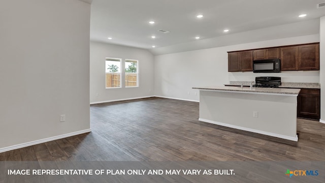
<path id="1" fill-rule="evenodd" d="M 297 117 L 320 118 L 320 89 L 301 89 L 297 98 Z"/>

